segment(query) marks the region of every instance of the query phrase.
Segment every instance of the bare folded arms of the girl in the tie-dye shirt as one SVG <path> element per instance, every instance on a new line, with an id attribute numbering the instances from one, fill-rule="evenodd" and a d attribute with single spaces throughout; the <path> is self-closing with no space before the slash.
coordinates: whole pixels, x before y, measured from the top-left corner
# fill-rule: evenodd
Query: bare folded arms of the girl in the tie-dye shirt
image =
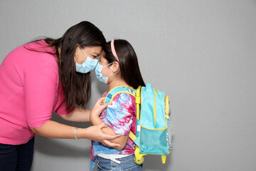
<path id="1" fill-rule="evenodd" d="M 95 105 L 92 108 L 92 111 L 90 113 L 90 121 L 91 121 L 92 125 L 100 125 L 103 123 L 103 121 L 100 120 L 99 115 L 102 112 L 102 110 L 107 108 L 107 105 L 109 105 L 109 103 L 104 104 L 104 100 L 105 100 L 105 98 L 100 98 L 99 100 L 97 100 L 97 102 L 95 103 Z M 103 128 L 102 132 L 106 133 L 106 134 L 110 134 L 110 135 L 117 135 L 116 133 L 114 133 L 114 130 L 112 130 L 112 128 L 110 128 L 110 127 Z M 114 148 L 116 148 L 117 150 L 122 150 L 122 149 L 124 149 L 125 145 L 127 144 L 127 140 L 128 140 L 128 135 L 121 135 L 119 138 L 114 138 L 110 141 L 113 143 L 119 143 L 121 146 L 114 147 Z"/>

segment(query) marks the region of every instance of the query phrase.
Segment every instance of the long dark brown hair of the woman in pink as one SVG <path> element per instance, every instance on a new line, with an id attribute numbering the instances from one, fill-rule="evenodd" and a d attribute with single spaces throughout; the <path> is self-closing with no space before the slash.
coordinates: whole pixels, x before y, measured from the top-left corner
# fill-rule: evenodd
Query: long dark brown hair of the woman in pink
<path id="1" fill-rule="evenodd" d="M 103 46 L 106 43 L 106 39 L 102 31 L 89 21 L 82 21 L 68 28 L 68 31 L 58 39 L 44 38 L 44 40 L 56 51 L 60 83 L 65 93 L 67 110 L 73 108 L 74 105 L 85 107 L 90 99 L 91 78 L 90 73 L 78 73 L 75 71 L 75 48 L 78 45 L 82 48 L 86 46 Z M 59 50 L 60 54 L 58 53 Z"/>

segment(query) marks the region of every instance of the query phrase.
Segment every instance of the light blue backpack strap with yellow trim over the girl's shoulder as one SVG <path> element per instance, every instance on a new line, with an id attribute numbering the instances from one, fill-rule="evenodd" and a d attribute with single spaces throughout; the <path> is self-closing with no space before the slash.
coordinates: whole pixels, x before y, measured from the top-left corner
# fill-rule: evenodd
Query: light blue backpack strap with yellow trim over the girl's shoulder
<path id="1" fill-rule="evenodd" d="M 132 95 L 132 96 L 135 97 L 135 93 L 132 93 L 129 90 L 129 88 L 130 87 L 127 87 L 127 86 L 118 86 L 118 87 L 112 88 L 112 90 L 110 90 L 110 92 L 107 93 L 107 96 L 105 98 L 104 103 L 110 103 L 111 104 L 114 96 L 116 96 L 119 93 L 127 93 L 127 94 Z"/>

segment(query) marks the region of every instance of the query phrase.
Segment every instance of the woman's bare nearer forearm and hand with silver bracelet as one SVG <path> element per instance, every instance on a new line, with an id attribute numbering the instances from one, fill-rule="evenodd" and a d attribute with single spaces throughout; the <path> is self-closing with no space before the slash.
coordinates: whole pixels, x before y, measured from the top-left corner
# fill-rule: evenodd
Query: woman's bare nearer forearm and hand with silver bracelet
<path id="1" fill-rule="evenodd" d="M 105 124 L 90 126 L 88 128 L 78 128 L 77 138 L 85 138 L 102 142 L 109 147 L 119 147 L 118 143 L 110 142 L 110 140 L 119 137 L 119 135 L 107 135 L 102 129 L 107 127 Z M 39 128 L 31 128 L 33 133 L 47 138 L 67 138 L 75 139 L 75 127 L 57 123 L 49 120 Z"/>

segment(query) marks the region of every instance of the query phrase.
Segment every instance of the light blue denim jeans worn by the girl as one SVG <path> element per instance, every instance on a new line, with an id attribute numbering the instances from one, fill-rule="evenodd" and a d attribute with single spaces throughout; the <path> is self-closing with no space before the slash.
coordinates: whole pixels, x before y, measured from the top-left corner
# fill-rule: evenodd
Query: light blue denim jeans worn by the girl
<path id="1" fill-rule="evenodd" d="M 114 162 L 110 159 L 105 159 L 100 156 L 95 157 L 95 162 L 97 164 L 97 171 L 107 170 L 107 171 L 121 171 L 121 170 L 131 170 L 137 171 L 142 170 L 142 165 L 137 165 L 134 162 L 134 155 L 129 155 L 128 157 L 117 158 L 116 160 L 120 161 L 121 163 Z"/>

